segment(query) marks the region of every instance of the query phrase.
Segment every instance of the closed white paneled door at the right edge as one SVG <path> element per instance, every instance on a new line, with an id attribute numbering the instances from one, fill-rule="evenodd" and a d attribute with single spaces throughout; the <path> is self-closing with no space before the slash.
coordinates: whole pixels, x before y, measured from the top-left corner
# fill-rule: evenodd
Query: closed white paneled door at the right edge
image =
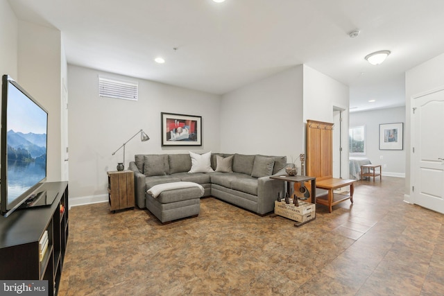
<path id="1" fill-rule="evenodd" d="M 444 214 L 444 89 L 411 103 L 413 203 Z"/>

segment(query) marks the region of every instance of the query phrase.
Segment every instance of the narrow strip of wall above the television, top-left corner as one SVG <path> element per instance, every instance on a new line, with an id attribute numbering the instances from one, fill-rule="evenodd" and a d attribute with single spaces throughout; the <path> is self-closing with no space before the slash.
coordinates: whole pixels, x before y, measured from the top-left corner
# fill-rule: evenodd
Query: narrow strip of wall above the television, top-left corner
<path id="1" fill-rule="evenodd" d="M 8 1 L 0 0 L 0 75 L 17 79 L 19 24 Z"/>

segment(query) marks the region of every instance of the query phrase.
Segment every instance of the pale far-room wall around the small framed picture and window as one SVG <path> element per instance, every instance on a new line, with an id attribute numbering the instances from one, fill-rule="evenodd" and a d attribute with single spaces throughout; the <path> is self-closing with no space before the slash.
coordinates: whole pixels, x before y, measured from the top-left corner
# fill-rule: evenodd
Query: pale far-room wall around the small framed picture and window
<path id="1" fill-rule="evenodd" d="M 405 128 L 405 107 L 350 113 L 350 128 L 366 127 L 366 155 L 362 157 L 370 159 L 372 164 L 381 164 L 382 175 L 405 177 L 405 138 L 403 150 L 379 150 L 379 124 L 384 123 L 404 123 Z"/>

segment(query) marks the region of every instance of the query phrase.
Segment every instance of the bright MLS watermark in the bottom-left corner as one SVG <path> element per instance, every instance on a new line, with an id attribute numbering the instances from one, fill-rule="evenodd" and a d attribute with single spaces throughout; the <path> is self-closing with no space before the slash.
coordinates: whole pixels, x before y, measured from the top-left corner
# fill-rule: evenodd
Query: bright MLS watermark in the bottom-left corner
<path id="1" fill-rule="evenodd" d="M 0 296 L 48 296 L 48 281 L 0 281 Z"/>

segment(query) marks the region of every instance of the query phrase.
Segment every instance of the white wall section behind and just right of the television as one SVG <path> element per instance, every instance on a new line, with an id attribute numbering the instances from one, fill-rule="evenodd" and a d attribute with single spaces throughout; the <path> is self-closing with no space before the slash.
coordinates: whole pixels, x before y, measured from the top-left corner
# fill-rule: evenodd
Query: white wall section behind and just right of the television
<path id="1" fill-rule="evenodd" d="M 48 111 L 47 181 L 60 181 L 61 130 L 61 34 L 60 31 L 19 21 L 18 78 Z"/>

